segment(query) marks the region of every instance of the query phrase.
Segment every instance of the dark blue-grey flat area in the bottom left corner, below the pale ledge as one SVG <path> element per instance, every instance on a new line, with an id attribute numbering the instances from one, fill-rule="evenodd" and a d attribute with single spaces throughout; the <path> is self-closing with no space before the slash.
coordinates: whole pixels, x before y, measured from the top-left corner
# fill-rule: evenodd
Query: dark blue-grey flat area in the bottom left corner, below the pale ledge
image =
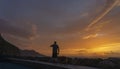
<path id="1" fill-rule="evenodd" d="M 31 68 L 13 63 L 0 62 L 0 69 L 31 69 Z"/>

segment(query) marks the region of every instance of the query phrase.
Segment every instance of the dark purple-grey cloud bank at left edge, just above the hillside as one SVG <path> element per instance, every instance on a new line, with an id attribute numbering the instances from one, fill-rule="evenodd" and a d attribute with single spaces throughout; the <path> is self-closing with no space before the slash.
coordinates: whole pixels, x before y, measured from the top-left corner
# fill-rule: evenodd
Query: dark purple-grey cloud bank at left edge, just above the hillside
<path id="1" fill-rule="evenodd" d="M 31 38 L 33 36 L 36 36 L 37 28 L 35 25 L 32 25 L 31 29 L 32 30 L 27 31 L 24 28 L 19 28 L 11 25 L 9 21 L 0 19 L 0 33 L 10 34 L 24 38 Z"/>

